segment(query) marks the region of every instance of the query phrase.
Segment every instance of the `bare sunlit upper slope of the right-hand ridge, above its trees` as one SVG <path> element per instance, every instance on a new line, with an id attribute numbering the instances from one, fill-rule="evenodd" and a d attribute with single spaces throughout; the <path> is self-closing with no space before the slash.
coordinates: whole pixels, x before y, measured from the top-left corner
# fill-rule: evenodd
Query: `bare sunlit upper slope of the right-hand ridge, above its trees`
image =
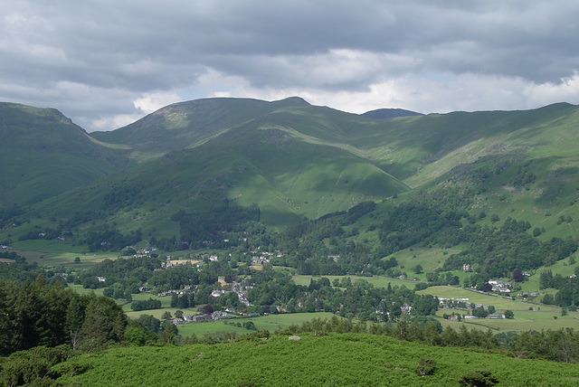
<path id="1" fill-rule="evenodd" d="M 579 109 L 555 104 L 525 111 L 455 112 L 359 126 L 352 146 L 413 187 L 483 156 L 557 157 L 574 163 Z"/>

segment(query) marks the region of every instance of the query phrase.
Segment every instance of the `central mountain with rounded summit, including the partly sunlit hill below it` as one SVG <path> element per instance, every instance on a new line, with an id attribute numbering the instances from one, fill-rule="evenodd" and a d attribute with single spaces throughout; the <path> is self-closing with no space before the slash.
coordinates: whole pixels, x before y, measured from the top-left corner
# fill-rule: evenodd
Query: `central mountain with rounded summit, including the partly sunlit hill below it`
<path id="1" fill-rule="evenodd" d="M 183 119 L 167 128 L 176 111 Z M 200 211 L 232 200 L 257 203 L 264 222 L 286 226 L 407 191 L 406 184 L 348 144 L 357 119 L 297 98 L 171 105 L 119 131 L 93 135 L 130 147 L 146 163 L 46 205 L 62 213 L 81 203 L 99 211 L 111 190 L 138 191 L 157 222 L 179 209 Z"/>

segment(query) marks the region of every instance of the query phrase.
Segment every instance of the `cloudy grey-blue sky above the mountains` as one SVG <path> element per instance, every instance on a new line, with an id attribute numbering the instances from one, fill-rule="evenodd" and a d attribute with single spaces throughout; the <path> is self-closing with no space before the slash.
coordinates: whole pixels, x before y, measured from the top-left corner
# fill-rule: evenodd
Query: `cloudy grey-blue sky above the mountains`
<path id="1" fill-rule="evenodd" d="M 174 102 L 352 113 L 579 104 L 569 0 L 2 0 L 0 101 L 113 130 Z"/>

